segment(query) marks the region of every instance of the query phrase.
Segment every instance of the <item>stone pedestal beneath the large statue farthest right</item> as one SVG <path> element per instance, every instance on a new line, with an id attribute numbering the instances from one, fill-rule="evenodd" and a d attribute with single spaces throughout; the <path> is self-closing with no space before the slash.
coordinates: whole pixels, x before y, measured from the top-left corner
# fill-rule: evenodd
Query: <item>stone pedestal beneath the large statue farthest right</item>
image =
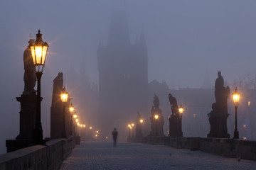
<path id="1" fill-rule="evenodd" d="M 227 128 L 228 113 L 209 113 L 210 133 L 207 137 L 230 138 Z"/>

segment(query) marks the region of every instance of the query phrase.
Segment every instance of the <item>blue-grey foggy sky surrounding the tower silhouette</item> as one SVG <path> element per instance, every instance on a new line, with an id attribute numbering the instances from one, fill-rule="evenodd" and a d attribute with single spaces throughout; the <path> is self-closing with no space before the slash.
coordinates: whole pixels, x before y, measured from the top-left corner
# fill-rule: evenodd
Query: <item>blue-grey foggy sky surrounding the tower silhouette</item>
<path id="1" fill-rule="evenodd" d="M 107 45 L 113 11 L 125 11 L 132 44 L 144 33 L 148 81 L 178 89 L 201 88 L 205 81 L 213 88 L 218 71 L 230 86 L 245 74 L 255 76 L 255 8 L 250 0 L 1 1 L 0 153 L 6 152 L 5 140 L 18 135 L 23 51 L 38 29 L 50 46 L 41 79 L 43 135 L 49 137 L 53 79 L 63 72 L 73 103 L 85 110 L 82 85 L 70 75 L 86 75 L 88 86 L 98 84 L 97 49 L 100 42 Z M 97 122 L 97 111 L 88 112 L 80 111 L 82 119 Z"/>

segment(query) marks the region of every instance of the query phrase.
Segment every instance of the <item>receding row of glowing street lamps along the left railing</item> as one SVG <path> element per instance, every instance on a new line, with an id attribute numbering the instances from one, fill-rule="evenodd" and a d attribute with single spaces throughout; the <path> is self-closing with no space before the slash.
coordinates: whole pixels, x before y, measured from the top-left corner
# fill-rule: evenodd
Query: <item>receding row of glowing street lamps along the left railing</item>
<path id="1" fill-rule="evenodd" d="M 44 42 L 42 39 L 41 31 L 38 30 L 38 34 L 36 34 L 36 40 L 31 40 L 30 42 L 30 50 L 31 50 L 31 56 L 33 59 L 33 65 L 36 67 L 36 79 L 38 81 L 37 83 L 37 94 L 36 94 L 36 125 L 32 132 L 32 140 L 33 144 L 35 145 L 43 145 L 45 141 L 43 140 L 43 128 L 41 124 L 41 77 L 43 75 L 43 68 L 45 67 L 46 63 L 46 55 L 48 52 L 48 43 Z M 65 113 L 66 109 L 66 103 L 68 102 L 68 99 L 70 96 L 68 95 L 68 92 L 65 90 L 65 87 L 63 89 L 62 94 L 60 94 L 60 99 L 63 102 L 63 113 Z M 70 130 L 72 130 L 72 126 L 74 125 L 76 128 L 76 125 L 78 125 L 78 128 L 85 128 L 85 124 L 80 123 L 78 119 L 78 115 L 75 113 L 75 108 L 73 104 L 71 103 L 70 107 L 68 108 L 70 111 Z M 74 123 L 73 123 L 74 121 Z M 65 116 L 63 117 L 63 125 L 65 125 Z M 90 126 L 90 130 L 92 130 L 92 127 Z M 75 130 L 76 131 L 76 130 Z M 62 132 L 63 137 L 67 137 L 67 132 L 65 128 L 63 128 Z M 95 137 L 97 137 L 97 134 L 99 131 L 96 132 Z M 76 132 L 71 132 L 71 134 L 76 135 Z"/>

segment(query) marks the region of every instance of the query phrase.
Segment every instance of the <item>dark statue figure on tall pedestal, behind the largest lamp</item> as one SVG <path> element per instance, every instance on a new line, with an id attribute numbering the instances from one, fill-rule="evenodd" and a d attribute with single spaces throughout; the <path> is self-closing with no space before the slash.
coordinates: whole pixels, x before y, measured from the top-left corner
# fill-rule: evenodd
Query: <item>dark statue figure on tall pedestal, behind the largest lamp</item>
<path id="1" fill-rule="evenodd" d="M 33 64 L 33 59 L 31 55 L 30 45 L 33 45 L 34 40 L 30 39 L 28 41 L 29 45 L 24 51 L 23 54 L 23 62 L 24 62 L 24 91 L 23 94 L 31 94 L 35 93 L 35 85 L 36 85 L 36 67 Z"/>

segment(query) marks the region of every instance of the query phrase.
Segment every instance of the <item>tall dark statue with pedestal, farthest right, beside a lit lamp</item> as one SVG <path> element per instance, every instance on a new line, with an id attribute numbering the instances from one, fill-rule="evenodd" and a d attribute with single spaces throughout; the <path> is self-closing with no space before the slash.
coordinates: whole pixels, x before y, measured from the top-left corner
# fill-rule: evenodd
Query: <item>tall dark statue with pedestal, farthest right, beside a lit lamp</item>
<path id="1" fill-rule="evenodd" d="M 212 111 L 208 113 L 210 123 L 210 133 L 208 137 L 229 138 L 227 128 L 228 118 L 228 98 L 230 96 L 229 86 L 224 86 L 224 79 L 221 72 L 218 72 L 218 78 L 215 80 L 215 103 L 212 104 Z"/>

